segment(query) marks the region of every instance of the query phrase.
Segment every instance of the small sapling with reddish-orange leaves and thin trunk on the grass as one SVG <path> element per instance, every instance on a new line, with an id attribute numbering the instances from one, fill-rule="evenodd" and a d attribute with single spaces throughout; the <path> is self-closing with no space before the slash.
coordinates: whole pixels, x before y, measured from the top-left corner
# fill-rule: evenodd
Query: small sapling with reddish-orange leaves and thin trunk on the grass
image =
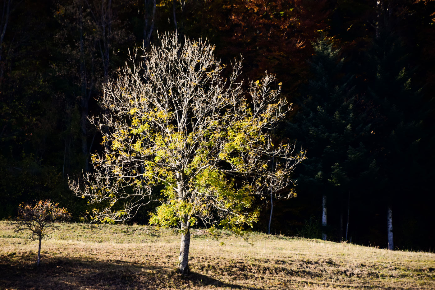
<path id="1" fill-rule="evenodd" d="M 12 222 L 17 233 L 30 230 L 32 233 L 30 239 L 33 241 L 39 240 L 37 266 L 39 266 L 41 260 L 41 242 L 43 237 L 47 236 L 47 229 L 52 227 L 57 220 L 70 218 L 67 209 L 59 208 L 58 205 L 58 203 L 53 203 L 50 200 L 40 200 L 33 207 L 21 203 L 18 207 L 18 218 Z"/>

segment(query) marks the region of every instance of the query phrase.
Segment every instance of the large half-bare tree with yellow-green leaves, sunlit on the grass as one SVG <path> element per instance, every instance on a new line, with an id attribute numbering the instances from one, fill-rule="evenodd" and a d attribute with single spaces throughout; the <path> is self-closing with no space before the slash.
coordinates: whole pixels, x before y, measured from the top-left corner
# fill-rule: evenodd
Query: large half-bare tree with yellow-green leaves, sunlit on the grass
<path id="1" fill-rule="evenodd" d="M 304 153 L 272 142 L 271 131 L 290 111 L 278 98 L 281 84 L 269 87 L 273 75 L 244 91 L 241 62 L 227 80 L 211 44 L 181 44 L 175 33 L 160 40 L 104 87 L 106 113 L 90 121 L 105 152 L 92 156 L 94 173 L 84 175 L 84 187 L 70 187 L 90 203 L 107 202 L 94 219 L 113 222 L 133 216 L 160 185 L 165 198 L 150 222 L 181 227 L 179 270 L 187 274 L 191 227 L 201 219 L 242 234 L 258 218 L 253 194 L 293 185 L 290 174 Z"/>

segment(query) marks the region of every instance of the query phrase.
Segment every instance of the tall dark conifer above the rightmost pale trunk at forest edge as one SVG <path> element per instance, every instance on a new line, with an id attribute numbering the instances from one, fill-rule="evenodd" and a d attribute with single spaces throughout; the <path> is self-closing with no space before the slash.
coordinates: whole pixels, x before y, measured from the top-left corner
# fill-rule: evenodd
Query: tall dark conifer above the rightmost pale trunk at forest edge
<path id="1" fill-rule="evenodd" d="M 395 200 L 404 198 L 414 186 L 404 181 L 424 183 L 425 157 L 421 152 L 425 152 L 422 140 L 428 137 L 422 127 L 425 110 L 421 91 L 411 86 L 404 47 L 388 25 L 377 28 L 368 58 L 373 65 L 368 89 L 373 104 L 372 151 L 379 165 L 378 196 L 386 207 L 387 247 L 392 250 Z"/>

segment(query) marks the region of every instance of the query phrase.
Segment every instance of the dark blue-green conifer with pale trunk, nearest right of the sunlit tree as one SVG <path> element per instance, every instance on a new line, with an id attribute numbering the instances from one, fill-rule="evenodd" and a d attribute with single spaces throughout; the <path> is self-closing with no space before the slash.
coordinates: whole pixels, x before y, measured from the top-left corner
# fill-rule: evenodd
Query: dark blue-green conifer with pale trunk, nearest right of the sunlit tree
<path id="1" fill-rule="evenodd" d="M 305 99 L 300 102 L 298 114 L 288 130 L 307 150 L 308 160 L 298 180 L 308 194 L 322 197 L 322 239 L 325 240 L 327 198 L 345 190 L 341 185 L 351 178 L 345 164 L 355 151 L 364 147 L 360 136 L 368 131 L 368 126 L 356 115 L 349 84 L 351 77 L 342 74 L 344 60 L 339 57 L 340 51 L 333 48 L 327 37 L 318 39 L 313 48 L 312 78 L 302 92 Z"/>

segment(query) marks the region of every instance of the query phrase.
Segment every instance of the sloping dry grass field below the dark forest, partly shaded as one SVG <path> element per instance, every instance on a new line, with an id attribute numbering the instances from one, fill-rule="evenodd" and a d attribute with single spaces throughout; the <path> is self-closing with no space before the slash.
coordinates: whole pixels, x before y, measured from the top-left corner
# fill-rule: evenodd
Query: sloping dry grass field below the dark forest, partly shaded
<path id="1" fill-rule="evenodd" d="M 62 223 L 42 242 L 0 221 L 0 289 L 435 289 L 435 254 L 254 233 L 248 243 L 193 230 L 191 274 L 180 236 L 150 226 Z"/>

